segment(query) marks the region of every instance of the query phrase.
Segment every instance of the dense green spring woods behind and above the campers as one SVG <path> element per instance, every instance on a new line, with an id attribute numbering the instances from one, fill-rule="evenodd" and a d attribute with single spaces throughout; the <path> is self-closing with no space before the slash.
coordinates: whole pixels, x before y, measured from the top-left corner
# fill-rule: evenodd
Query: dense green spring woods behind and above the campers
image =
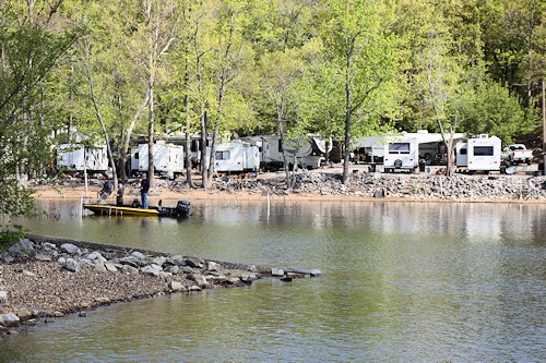
<path id="1" fill-rule="evenodd" d="M 17 179 L 43 176 L 51 146 L 74 142 L 74 130 L 108 145 L 119 179 L 138 136 L 152 148 L 175 133 L 212 135 L 213 150 L 233 132 L 317 133 L 348 149 L 357 136 L 418 129 L 541 147 L 545 8 L 542 0 L 4 0 L 0 213 L 28 210 Z M 348 153 L 344 166 L 346 180 Z M 211 171 L 203 162 L 205 187 Z"/>

